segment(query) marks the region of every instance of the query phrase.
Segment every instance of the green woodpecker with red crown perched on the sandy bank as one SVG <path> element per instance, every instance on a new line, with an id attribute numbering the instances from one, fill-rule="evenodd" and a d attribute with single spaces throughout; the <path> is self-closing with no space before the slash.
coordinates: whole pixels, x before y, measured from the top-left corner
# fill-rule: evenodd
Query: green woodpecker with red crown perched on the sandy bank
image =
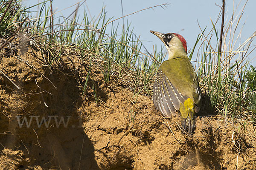
<path id="1" fill-rule="evenodd" d="M 156 35 L 167 48 L 168 60 L 164 61 L 157 72 L 154 82 L 154 106 L 163 116 L 172 117 L 179 111 L 181 125 L 191 135 L 195 127 L 195 113 L 201 106 L 201 90 L 198 77 L 187 57 L 186 40 L 179 34 Z"/>

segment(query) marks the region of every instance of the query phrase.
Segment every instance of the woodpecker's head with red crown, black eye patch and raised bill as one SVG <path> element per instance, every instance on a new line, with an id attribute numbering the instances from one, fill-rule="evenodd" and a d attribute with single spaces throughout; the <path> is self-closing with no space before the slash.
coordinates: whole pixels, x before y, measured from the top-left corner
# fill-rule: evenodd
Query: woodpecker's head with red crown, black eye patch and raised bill
<path id="1" fill-rule="evenodd" d="M 175 55 L 187 54 L 186 40 L 176 33 L 163 34 L 157 31 L 150 31 L 152 34 L 156 35 L 166 46 L 169 52 L 169 59 Z"/>

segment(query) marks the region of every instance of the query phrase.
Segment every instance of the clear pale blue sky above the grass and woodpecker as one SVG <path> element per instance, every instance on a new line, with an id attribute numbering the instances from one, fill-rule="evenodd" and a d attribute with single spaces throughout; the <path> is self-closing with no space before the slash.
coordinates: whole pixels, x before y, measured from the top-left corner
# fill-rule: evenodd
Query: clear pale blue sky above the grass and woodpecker
<path id="1" fill-rule="evenodd" d="M 53 0 L 54 10 L 60 11 L 67 7 L 70 7 L 81 0 Z M 225 24 L 232 17 L 233 8 L 236 9 L 234 18 L 241 11 L 247 0 L 226 0 L 225 8 Z M 40 1 L 36 0 L 23 0 L 23 5 L 32 6 Z M 160 47 L 162 42 L 151 34 L 149 31 L 159 31 L 163 33 L 174 32 L 181 34 L 187 41 L 188 49 L 192 48 L 195 44 L 195 40 L 198 34 L 201 33 L 198 23 L 201 28 L 209 30 L 212 28 L 212 23 L 216 21 L 218 14 L 221 10 L 222 0 L 122 0 L 123 13 L 124 15 L 131 14 L 135 11 L 139 11 L 144 8 L 169 3 L 168 6 L 162 8 L 160 6 L 148 9 L 145 11 L 138 12 L 131 16 L 125 17 L 125 23 L 131 23 L 131 27 L 134 28 L 134 33 L 139 36 L 140 40 L 144 40 L 143 44 L 148 48 L 148 51 L 153 51 L 152 46 L 157 45 Z M 91 16 L 97 16 L 102 10 L 102 6 L 105 6 L 107 11 L 107 17 L 113 19 L 122 17 L 122 6 L 121 0 L 86 0 L 86 2 L 79 8 L 79 13 L 81 17 L 83 16 L 84 10 L 87 14 L 90 12 Z M 238 6 L 238 7 L 237 7 Z M 237 30 L 241 32 L 240 42 L 247 40 L 250 35 L 256 31 L 256 0 L 248 0 L 247 5 L 244 8 L 244 13 L 240 19 L 240 24 Z M 58 13 L 58 15 L 63 15 L 65 17 L 69 16 L 76 6 L 70 7 Z M 122 25 L 123 20 L 117 20 L 114 22 L 115 25 L 118 22 Z M 218 31 L 218 36 L 220 34 L 221 20 L 219 20 L 216 25 Z M 239 34 L 237 31 L 236 36 Z M 206 31 L 207 32 L 207 31 Z M 255 45 L 255 41 L 253 41 Z M 255 61 L 255 53 L 250 55 L 252 61 Z"/>

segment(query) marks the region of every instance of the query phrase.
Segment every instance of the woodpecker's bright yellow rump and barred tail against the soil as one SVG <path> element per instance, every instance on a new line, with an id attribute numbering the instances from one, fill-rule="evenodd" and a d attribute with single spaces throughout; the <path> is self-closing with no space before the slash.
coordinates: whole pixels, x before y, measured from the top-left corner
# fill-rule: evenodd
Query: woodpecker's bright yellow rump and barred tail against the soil
<path id="1" fill-rule="evenodd" d="M 195 127 L 195 103 L 190 98 L 180 104 L 180 119 L 183 130 L 188 128 L 188 133 L 191 135 Z"/>

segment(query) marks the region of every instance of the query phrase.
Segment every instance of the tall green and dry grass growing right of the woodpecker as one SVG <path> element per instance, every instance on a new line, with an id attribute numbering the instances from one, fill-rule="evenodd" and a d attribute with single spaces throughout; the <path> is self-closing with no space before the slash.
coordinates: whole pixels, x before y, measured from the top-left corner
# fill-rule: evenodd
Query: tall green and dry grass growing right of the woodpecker
<path id="1" fill-rule="evenodd" d="M 233 10 L 233 16 L 236 17 L 227 19 L 223 33 L 221 32 L 223 34 L 222 51 L 220 51 L 219 37 L 215 27 L 221 13 L 218 20 L 215 23 L 212 22 L 209 33 L 201 29 L 202 39 L 196 42 L 201 42 L 197 54 L 201 87 L 210 98 L 212 110 L 223 116 L 225 121 L 232 118 L 233 123 L 247 117 L 248 102 L 246 101 L 251 97 L 248 95 L 250 85 L 247 84 L 247 68 L 250 54 L 255 49 L 252 46 L 255 33 L 244 42 L 239 42 L 242 30 L 236 29 L 241 22 L 244 6 L 239 14 L 236 14 L 236 9 Z M 240 44 L 237 44 L 238 42 Z"/>

